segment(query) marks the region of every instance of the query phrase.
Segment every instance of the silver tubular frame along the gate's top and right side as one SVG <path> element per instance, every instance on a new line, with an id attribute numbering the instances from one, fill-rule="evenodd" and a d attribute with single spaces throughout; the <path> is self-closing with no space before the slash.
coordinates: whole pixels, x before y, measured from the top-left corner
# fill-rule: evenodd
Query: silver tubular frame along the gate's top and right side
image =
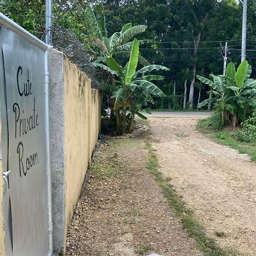
<path id="1" fill-rule="evenodd" d="M 49 59 L 49 49 L 52 48 L 52 46 L 49 46 L 48 44 L 45 44 L 38 38 L 36 38 L 34 35 L 30 34 L 30 32 L 26 31 L 24 28 L 20 27 L 18 24 L 13 22 L 13 20 L 7 18 L 5 15 L 0 13 L 0 25 L 8 28 L 9 30 L 15 32 L 16 34 L 19 34 L 23 36 L 23 38 L 27 39 L 31 44 L 34 44 L 35 46 L 39 47 L 44 51 L 44 71 L 45 71 L 45 96 L 46 97 L 46 148 L 47 148 L 47 199 L 48 199 L 48 241 L 49 241 L 49 252 L 48 255 L 51 256 L 53 254 L 53 238 L 52 238 L 52 232 L 53 232 L 53 224 L 52 224 L 52 181 L 51 181 L 51 156 L 50 156 L 50 134 L 49 134 L 49 68 L 48 68 L 48 59 Z M 5 200 L 5 199 L 3 199 Z M 3 216 L 5 219 L 5 216 Z"/>

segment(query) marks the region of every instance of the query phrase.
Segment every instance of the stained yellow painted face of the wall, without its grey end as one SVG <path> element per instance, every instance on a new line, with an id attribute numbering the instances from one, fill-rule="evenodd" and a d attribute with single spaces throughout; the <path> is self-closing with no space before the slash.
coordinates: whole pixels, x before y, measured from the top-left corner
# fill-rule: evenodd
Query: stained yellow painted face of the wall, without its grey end
<path id="1" fill-rule="evenodd" d="M 64 57 L 64 151 L 66 232 L 80 196 L 90 156 L 100 132 L 100 93 Z"/>

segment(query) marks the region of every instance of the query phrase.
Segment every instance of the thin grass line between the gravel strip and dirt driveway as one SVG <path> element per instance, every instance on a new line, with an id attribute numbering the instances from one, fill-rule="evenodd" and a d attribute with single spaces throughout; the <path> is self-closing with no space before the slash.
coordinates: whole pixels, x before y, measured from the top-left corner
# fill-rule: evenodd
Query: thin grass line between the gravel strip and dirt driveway
<path id="1" fill-rule="evenodd" d="M 150 174 L 154 175 L 156 183 L 162 188 L 162 193 L 166 197 L 170 209 L 180 218 L 183 228 L 187 230 L 189 236 L 195 239 L 196 247 L 205 256 L 234 256 L 237 255 L 232 249 L 221 249 L 213 238 L 205 234 L 203 226 L 193 215 L 193 212 L 185 207 L 184 201 L 181 199 L 175 189 L 168 184 L 159 170 L 158 158 L 150 143 L 146 143 L 148 150 L 146 168 Z"/>

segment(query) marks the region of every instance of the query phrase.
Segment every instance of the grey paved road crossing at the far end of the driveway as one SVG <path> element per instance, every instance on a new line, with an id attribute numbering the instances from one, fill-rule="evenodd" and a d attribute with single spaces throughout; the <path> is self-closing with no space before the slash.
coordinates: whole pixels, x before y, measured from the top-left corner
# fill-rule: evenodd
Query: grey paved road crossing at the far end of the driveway
<path id="1" fill-rule="evenodd" d="M 143 112 L 142 114 L 146 117 L 209 117 L 211 112 L 201 112 L 201 111 L 174 111 L 174 112 L 151 112 L 152 114 L 147 114 Z"/>

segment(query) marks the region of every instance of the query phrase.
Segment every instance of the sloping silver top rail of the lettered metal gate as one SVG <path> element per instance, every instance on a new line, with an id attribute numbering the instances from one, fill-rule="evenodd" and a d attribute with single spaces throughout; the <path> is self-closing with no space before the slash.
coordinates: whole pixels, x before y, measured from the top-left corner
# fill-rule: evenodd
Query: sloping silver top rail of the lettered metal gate
<path id="1" fill-rule="evenodd" d="M 5 15 L 0 13 L 0 26 L 6 27 L 9 30 L 12 30 L 16 32 L 17 34 L 23 36 L 28 41 L 30 41 L 31 44 L 34 44 L 35 46 L 39 47 L 43 51 L 47 51 L 51 46 L 44 43 L 40 39 L 36 38 L 34 35 L 32 35 L 30 32 L 25 30 L 23 27 L 20 27 L 18 24 L 13 22 L 13 20 L 7 18 Z"/>

